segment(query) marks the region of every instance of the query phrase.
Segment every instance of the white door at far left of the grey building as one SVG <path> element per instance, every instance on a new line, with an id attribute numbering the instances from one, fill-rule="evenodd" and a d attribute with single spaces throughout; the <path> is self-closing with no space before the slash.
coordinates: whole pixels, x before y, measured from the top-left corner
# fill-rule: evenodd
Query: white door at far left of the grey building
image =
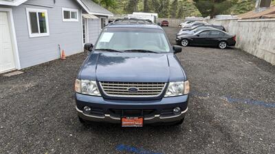
<path id="1" fill-rule="evenodd" d="M 8 13 L 0 12 L 0 73 L 15 68 Z"/>

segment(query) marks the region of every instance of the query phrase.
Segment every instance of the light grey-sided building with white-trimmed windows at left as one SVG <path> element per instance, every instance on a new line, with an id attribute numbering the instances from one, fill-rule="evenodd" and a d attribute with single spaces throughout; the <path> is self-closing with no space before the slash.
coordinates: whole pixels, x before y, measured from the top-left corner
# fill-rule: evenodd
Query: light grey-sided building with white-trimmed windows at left
<path id="1" fill-rule="evenodd" d="M 0 0 L 0 73 L 82 52 L 108 16 L 91 0 Z"/>

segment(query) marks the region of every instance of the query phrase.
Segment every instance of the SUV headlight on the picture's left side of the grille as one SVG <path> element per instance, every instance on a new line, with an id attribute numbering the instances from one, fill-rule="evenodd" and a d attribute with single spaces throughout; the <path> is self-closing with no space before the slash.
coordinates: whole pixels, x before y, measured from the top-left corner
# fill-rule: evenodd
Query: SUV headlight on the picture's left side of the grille
<path id="1" fill-rule="evenodd" d="M 81 94 L 89 94 L 93 96 L 101 96 L 98 86 L 96 85 L 96 81 L 90 81 L 90 80 L 82 80 L 82 79 L 76 79 L 76 83 L 74 86 L 74 89 L 76 92 Z"/>

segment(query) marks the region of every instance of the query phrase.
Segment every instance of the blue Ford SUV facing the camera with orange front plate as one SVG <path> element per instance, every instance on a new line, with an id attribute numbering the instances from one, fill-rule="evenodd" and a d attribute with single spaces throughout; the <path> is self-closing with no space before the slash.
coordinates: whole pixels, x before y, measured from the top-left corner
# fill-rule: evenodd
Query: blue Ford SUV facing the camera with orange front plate
<path id="1" fill-rule="evenodd" d="M 80 122 L 181 125 L 188 110 L 189 82 L 162 27 L 122 18 L 102 29 L 76 82 Z"/>

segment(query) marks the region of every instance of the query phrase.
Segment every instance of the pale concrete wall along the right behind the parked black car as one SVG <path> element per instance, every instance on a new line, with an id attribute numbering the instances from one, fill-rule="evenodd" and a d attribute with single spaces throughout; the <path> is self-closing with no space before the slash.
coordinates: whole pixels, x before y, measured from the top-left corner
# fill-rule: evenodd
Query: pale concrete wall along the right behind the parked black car
<path id="1" fill-rule="evenodd" d="M 236 35 L 236 48 L 275 65 L 275 19 L 209 20 Z"/>

